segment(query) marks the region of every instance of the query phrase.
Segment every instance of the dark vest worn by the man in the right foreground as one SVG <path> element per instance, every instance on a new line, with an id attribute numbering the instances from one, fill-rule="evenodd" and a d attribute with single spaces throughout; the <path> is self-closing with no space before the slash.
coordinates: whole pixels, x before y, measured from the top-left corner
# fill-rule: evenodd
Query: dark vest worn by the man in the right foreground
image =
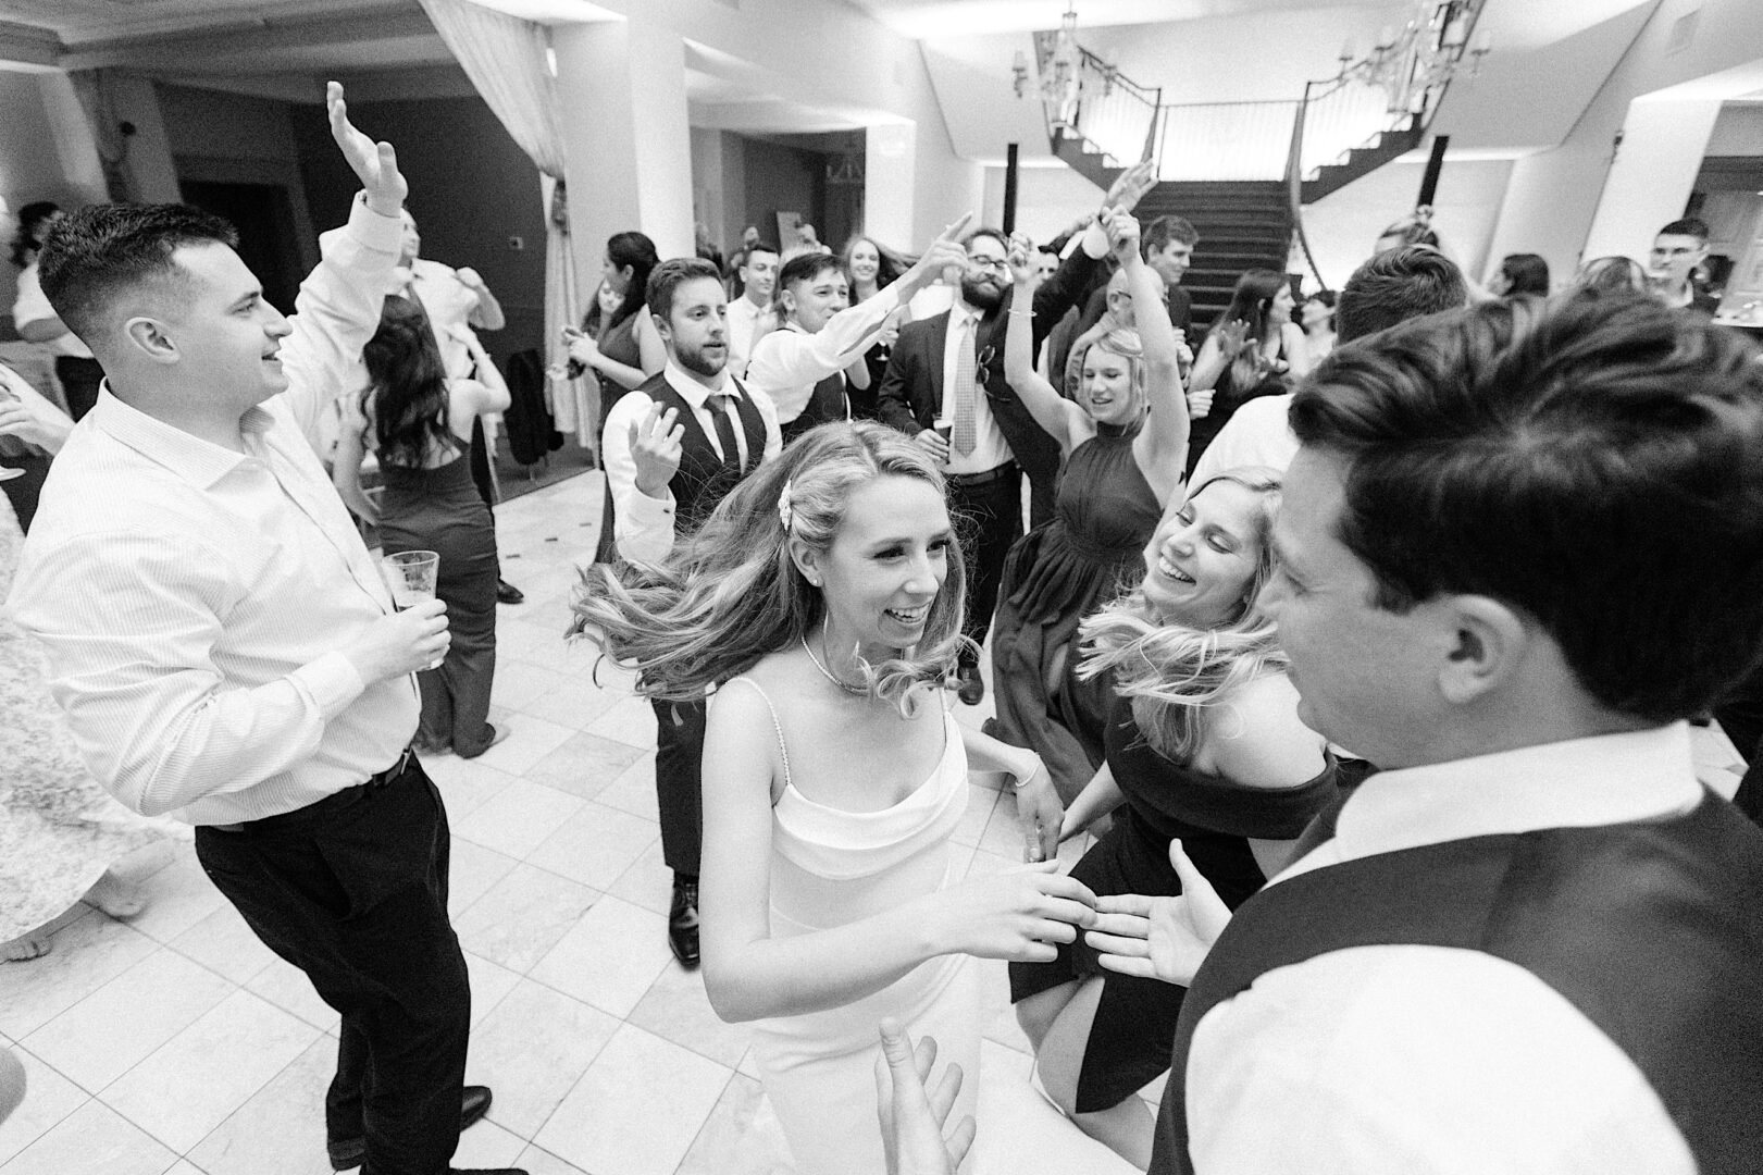
<path id="1" fill-rule="evenodd" d="M 1661 822 L 1423 845 L 1250 898 L 1188 988 L 1148 1175 L 1194 1171 L 1188 1048 L 1213 1006 L 1278 967 L 1380 944 L 1523 967 L 1634 1062 L 1701 1175 L 1763 1168 L 1763 833 L 1708 794 Z"/>

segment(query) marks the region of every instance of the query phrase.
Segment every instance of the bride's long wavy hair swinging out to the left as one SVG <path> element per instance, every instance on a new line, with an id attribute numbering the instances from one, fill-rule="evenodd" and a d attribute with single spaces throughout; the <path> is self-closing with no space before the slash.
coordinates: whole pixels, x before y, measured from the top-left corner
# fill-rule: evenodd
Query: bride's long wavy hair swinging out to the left
<path id="1" fill-rule="evenodd" d="M 640 693 L 703 695 L 820 625 L 825 598 L 802 577 L 790 540 L 825 552 L 852 494 L 882 476 L 917 478 L 945 496 L 934 459 L 887 425 L 857 420 L 804 432 L 718 503 L 695 535 L 675 542 L 663 563 L 624 575 L 605 565 L 584 568 L 569 635 L 635 669 Z M 950 543 L 948 573 L 919 644 L 880 665 L 860 663 L 871 697 L 910 716 L 919 697 L 941 683 L 963 640 L 964 595 L 961 547 Z"/>

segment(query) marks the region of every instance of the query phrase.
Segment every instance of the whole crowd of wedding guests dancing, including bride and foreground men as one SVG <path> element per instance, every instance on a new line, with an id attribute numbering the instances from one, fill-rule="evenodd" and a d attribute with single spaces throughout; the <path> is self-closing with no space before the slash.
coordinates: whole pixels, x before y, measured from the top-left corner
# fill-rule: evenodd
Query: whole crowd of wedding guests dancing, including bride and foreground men
<path id="1" fill-rule="evenodd" d="M 508 737 L 502 312 L 326 106 L 363 192 L 293 318 L 194 208 L 23 210 L 71 411 L 0 367 L 0 940 L 130 916 L 108 866 L 194 827 L 340 1013 L 331 1164 L 443 1175 L 492 1096 L 423 759 Z M 654 707 L 668 944 L 795 1170 L 963 1164 L 968 958 L 1134 1168 L 1754 1170 L 1758 785 L 1705 787 L 1689 723 L 1763 737 L 1763 363 L 1707 226 L 1557 289 L 1421 212 L 1195 323 L 1153 185 L 1053 242 L 617 233 L 562 341 L 605 494 L 547 619 Z M 434 598 L 368 540 L 439 552 Z M 971 771 L 1021 868 L 956 866 Z"/>

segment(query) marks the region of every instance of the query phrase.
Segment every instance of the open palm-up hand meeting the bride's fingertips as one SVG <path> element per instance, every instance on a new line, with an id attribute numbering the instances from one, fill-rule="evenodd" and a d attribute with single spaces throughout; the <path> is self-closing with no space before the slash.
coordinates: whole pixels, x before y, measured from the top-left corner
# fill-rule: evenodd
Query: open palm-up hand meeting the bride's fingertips
<path id="1" fill-rule="evenodd" d="M 1084 942 L 1098 953 L 1107 970 L 1141 979 L 1188 986 L 1206 962 L 1213 942 L 1231 921 L 1231 909 L 1211 882 L 1169 842 L 1169 863 L 1181 879 L 1174 898 L 1109 894 L 1097 902 L 1097 921 Z"/>

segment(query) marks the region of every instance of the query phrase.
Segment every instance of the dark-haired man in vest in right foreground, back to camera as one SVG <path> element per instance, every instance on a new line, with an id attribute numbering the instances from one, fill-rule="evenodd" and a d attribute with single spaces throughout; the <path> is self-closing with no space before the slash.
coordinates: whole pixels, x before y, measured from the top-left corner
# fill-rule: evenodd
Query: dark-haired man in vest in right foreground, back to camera
<path id="1" fill-rule="evenodd" d="M 1151 1171 L 1751 1171 L 1763 833 L 1687 718 L 1763 642 L 1763 363 L 1648 298 L 1335 351 L 1262 605 L 1379 764 L 1181 1009 Z"/>

